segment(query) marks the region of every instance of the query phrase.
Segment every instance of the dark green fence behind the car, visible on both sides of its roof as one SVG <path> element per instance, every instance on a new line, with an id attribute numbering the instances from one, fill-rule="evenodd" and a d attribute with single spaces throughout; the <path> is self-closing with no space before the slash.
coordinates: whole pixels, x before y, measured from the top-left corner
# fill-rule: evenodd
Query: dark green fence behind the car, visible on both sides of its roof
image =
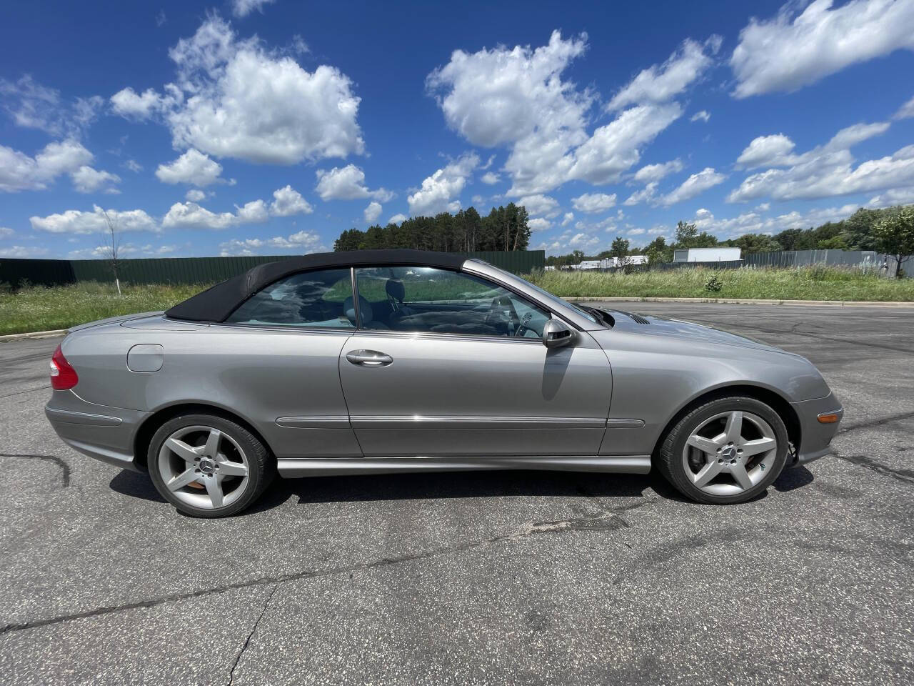
<path id="1" fill-rule="evenodd" d="M 541 250 L 514 252 L 462 252 L 508 272 L 529 273 L 542 269 L 546 253 Z M 119 260 L 118 275 L 127 284 L 215 284 L 258 264 L 287 260 L 295 255 L 250 257 L 154 257 Z M 75 284 L 79 281 L 112 281 L 106 260 L 0 259 L 0 284 L 14 288 L 24 282 L 42 285 Z"/>

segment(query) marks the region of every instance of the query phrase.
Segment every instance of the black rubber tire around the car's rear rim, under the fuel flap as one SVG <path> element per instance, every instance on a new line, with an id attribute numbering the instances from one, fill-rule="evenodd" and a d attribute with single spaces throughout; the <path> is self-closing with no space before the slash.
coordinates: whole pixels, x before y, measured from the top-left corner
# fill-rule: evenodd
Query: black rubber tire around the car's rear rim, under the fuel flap
<path id="1" fill-rule="evenodd" d="M 165 487 L 165 478 L 159 467 L 159 452 L 162 445 L 175 432 L 186 427 L 206 426 L 218 429 L 219 432 L 228 436 L 231 441 L 238 444 L 244 452 L 247 459 L 248 476 L 247 485 L 243 492 L 239 493 L 228 505 L 214 508 L 194 507 L 178 498 L 175 493 Z M 168 502 L 175 506 L 180 512 L 190 517 L 199 517 L 207 519 L 216 519 L 219 517 L 231 517 L 239 512 L 250 508 L 254 502 L 260 498 L 263 491 L 270 486 L 275 475 L 275 460 L 265 445 L 260 442 L 254 434 L 251 434 L 246 428 L 239 423 L 219 417 L 213 414 L 182 414 L 168 420 L 158 431 L 153 434 L 149 442 L 149 448 L 146 454 L 146 464 L 149 468 L 149 475 L 153 479 L 155 489 Z"/>

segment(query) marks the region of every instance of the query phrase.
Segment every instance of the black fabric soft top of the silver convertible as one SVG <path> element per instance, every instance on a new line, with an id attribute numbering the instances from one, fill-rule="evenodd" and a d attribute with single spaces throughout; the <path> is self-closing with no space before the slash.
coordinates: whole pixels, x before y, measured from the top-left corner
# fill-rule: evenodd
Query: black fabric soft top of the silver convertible
<path id="1" fill-rule="evenodd" d="M 291 273 L 311 269 L 364 267 L 375 264 L 406 264 L 443 269 L 460 269 L 467 258 L 450 252 L 423 250 L 354 250 L 315 252 L 288 260 L 258 264 L 247 272 L 214 285 L 203 293 L 187 298 L 165 316 L 195 322 L 224 322 L 251 295 Z"/>

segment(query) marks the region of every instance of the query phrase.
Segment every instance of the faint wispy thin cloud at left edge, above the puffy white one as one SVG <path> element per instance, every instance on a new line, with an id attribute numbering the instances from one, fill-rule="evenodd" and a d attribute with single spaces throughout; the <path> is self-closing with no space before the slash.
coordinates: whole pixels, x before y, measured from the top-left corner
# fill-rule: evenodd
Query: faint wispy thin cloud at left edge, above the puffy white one
<path id="1" fill-rule="evenodd" d="M 104 104 L 98 95 L 64 102 L 60 91 L 42 86 L 29 75 L 16 82 L 0 79 L 0 95 L 17 126 L 68 138 L 79 138 Z"/>

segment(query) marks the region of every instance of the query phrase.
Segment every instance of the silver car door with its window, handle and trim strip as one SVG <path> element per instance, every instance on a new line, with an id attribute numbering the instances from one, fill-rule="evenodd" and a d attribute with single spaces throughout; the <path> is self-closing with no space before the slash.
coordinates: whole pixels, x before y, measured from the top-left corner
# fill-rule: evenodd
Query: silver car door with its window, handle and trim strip
<path id="1" fill-rule="evenodd" d="M 366 456 L 597 455 L 611 370 L 586 332 L 546 348 L 540 305 L 468 273 L 356 269 L 339 371 Z"/>

